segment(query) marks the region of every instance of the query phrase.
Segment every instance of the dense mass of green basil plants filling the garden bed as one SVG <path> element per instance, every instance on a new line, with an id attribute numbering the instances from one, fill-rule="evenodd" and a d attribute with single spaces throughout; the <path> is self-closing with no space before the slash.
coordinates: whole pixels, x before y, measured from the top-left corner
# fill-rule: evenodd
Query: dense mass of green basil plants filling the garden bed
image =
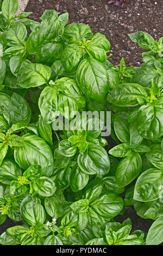
<path id="1" fill-rule="evenodd" d="M 146 50 L 143 64 L 126 67 L 122 58 L 119 68 L 108 61 L 105 36 L 83 23 L 66 26 L 67 13 L 46 10 L 39 23 L 31 13 L 15 16 L 17 0 L 4 0 L 1 9 L 0 224 L 7 216 L 23 224 L 8 228 L 0 243 L 159 245 L 163 38 L 129 34 Z M 106 109 L 117 142 L 109 153 L 103 125 L 89 130 L 95 119 L 84 131 L 52 126 L 59 113 Z M 130 233 L 129 219 L 114 220 L 129 205 L 154 220 L 148 234 Z"/>

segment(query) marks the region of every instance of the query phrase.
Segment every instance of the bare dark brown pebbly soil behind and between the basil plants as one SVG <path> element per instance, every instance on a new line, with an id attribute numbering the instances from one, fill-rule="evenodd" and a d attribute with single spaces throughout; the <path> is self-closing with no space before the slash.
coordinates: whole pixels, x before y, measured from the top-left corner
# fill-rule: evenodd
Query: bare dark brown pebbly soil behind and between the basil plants
<path id="1" fill-rule="evenodd" d="M 46 9 L 54 9 L 58 14 L 69 13 L 69 23 L 83 22 L 89 25 L 93 33 L 106 35 L 111 43 L 110 61 L 114 65 L 123 57 L 128 66 L 140 66 L 143 50 L 131 42 L 128 34 L 136 31 L 149 33 L 153 38 L 163 36 L 163 1 L 130 0 L 125 9 L 108 4 L 107 0 L 29 0 L 25 11 L 33 11 L 30 19 L 40 21 L 39 17 Z M 110 143 L 111 144 L 111 143 Z M 112 145 L 114 147 L 114 145 Z M 133 206 L 126 207 L 124 215 L 118 215 L 115 221 L 122 222 L 130 218 L 132 231 L 141 229 L 145 232 L 153 223 L 136 215 Z M 0 234 L 7 228 L 21 223 L 7 218 L 0 226 Z"/>

